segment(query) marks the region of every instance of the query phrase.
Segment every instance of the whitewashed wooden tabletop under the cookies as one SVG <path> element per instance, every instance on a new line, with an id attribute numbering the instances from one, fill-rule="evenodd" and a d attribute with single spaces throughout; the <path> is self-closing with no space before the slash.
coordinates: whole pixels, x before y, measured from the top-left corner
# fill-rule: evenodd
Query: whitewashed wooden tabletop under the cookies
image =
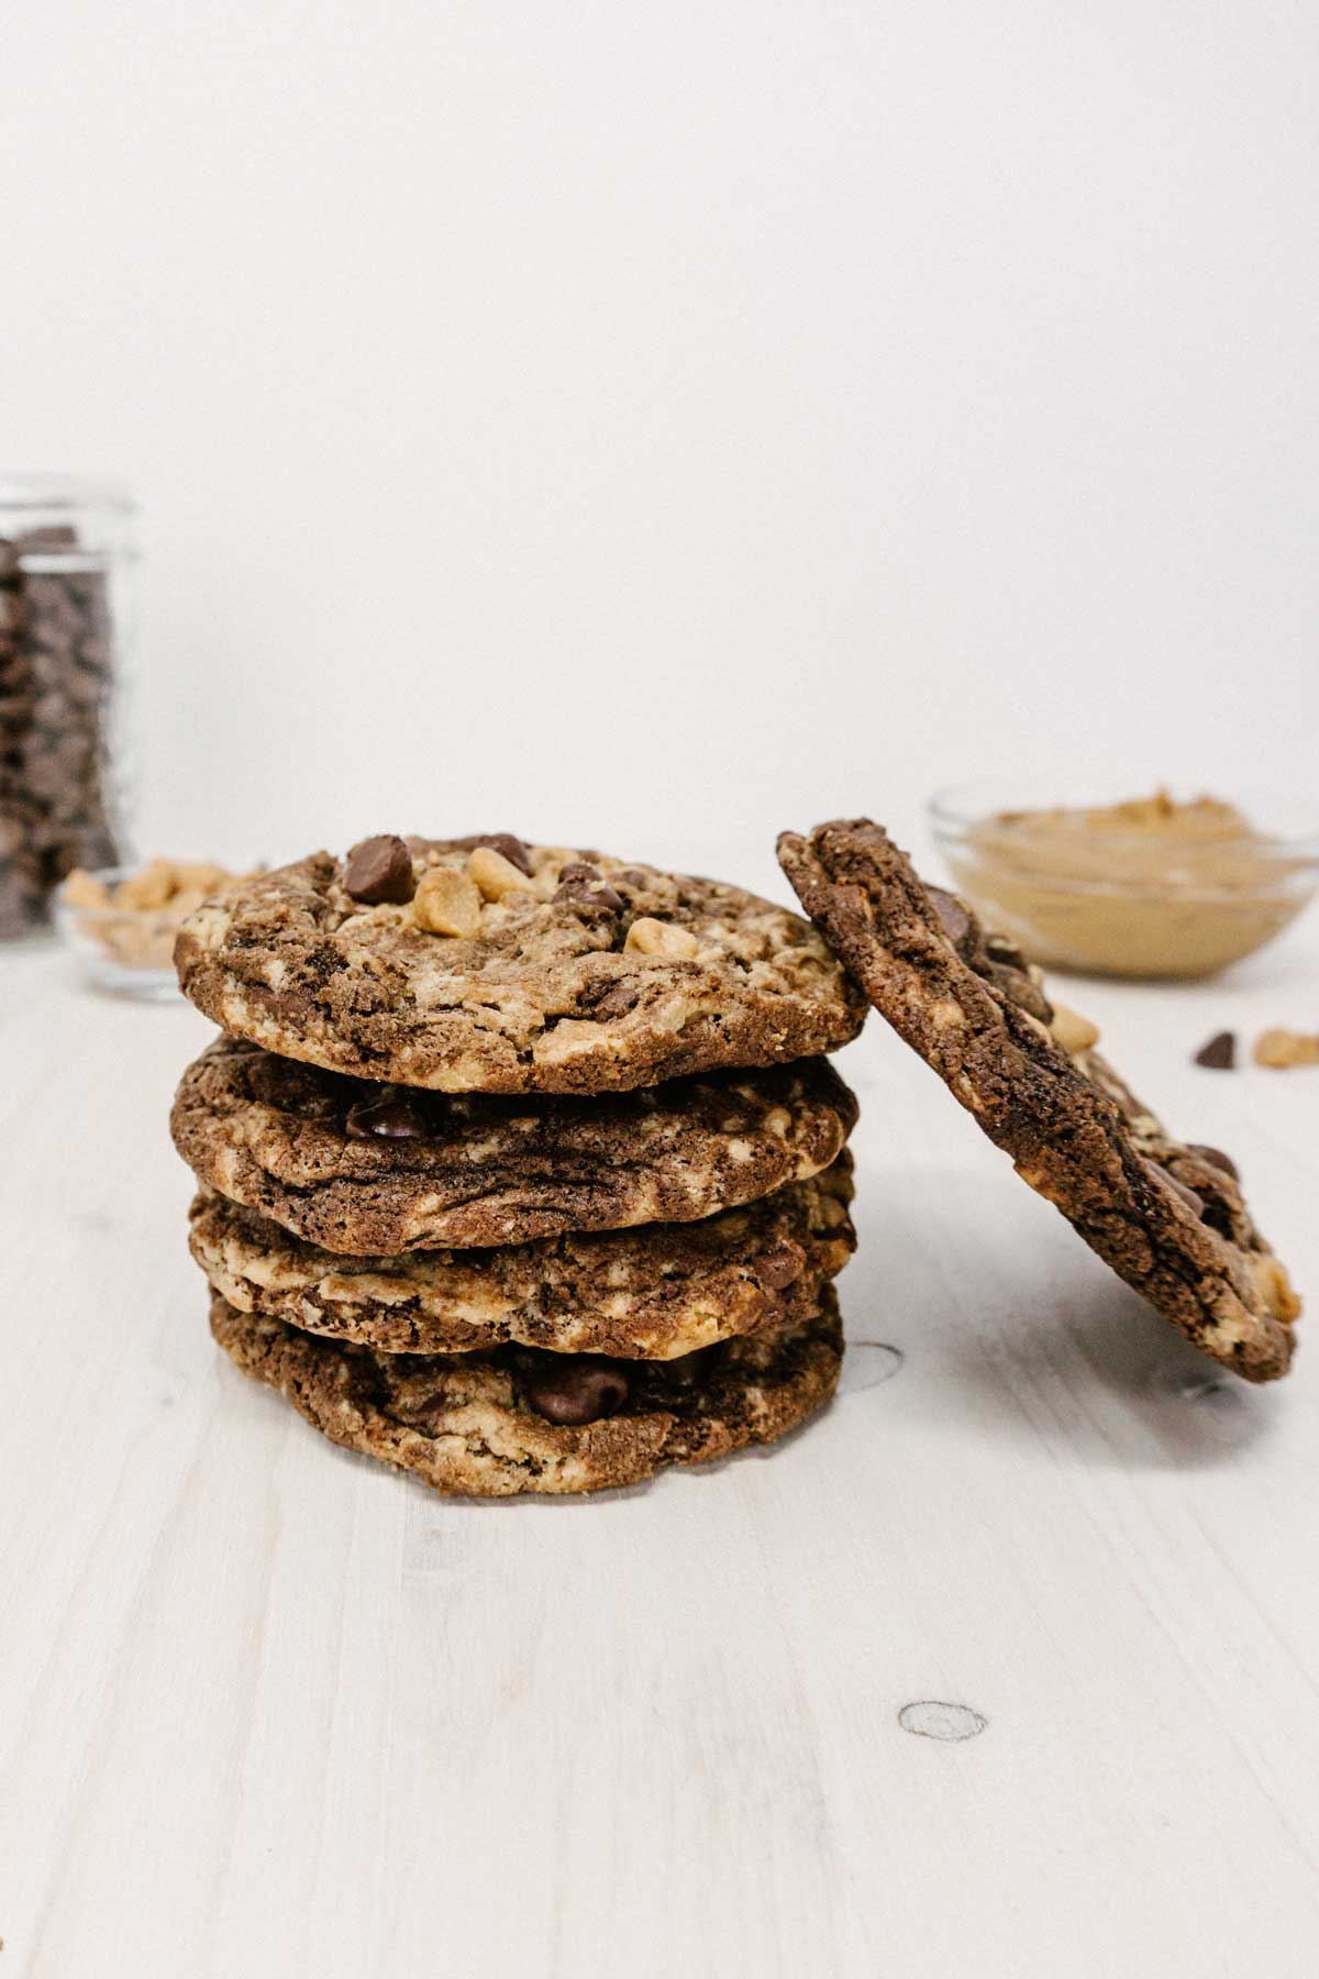
<path id="1" fill-rule="evenodd" d="M 1317 940 L 1070 991 L 1311 1294 L 1319 1071 L 1188 1053 Z M 212 1346 L 206 1035 L 0 956 L 0 1979 L 1319 1973 L 1319 1346 L 1218 1377 L 872 1019 L 831 1413 L 447 1502 Z"/>

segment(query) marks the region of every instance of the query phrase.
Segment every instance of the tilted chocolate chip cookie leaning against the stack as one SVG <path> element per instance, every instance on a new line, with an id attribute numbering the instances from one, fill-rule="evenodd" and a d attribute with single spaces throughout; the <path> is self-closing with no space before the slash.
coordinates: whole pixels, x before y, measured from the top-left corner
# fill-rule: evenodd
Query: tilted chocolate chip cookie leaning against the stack
<path id="1" fill-rule="evenodd" d="M 1246 1375 L 1287 1371 L 1301 1306 L 1236 1170 L 1183 1144 L 1056 1009 L 1016 948 L 923 887 L 866 817 L 785 831 L 779 863 L 874 1007 L 1022 1176 L 1194 1346 Z"/>

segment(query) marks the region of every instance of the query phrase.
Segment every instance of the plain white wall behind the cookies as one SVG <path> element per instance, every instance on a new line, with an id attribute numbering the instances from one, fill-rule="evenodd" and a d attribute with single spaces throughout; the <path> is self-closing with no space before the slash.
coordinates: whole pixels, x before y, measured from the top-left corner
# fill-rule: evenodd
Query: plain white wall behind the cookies
<path id="1" fill-rule="evenodd" d="M 1309 0 L 12 8 L 0 465 L 142 499 L 140 837 L 761 877 L 1313 776 Z"/>

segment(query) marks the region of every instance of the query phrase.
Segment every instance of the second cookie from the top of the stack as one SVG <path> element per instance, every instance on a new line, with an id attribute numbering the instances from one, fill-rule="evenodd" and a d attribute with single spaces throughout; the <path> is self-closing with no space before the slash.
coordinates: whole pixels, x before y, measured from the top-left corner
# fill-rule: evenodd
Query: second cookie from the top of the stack
<path id="1" fill-rule="evenodd" d="M 498 1098 L 370 1086 L 231 1037 L 188 1067 L 170 1116 L 202 1181 L 358 1257 L 710 1217 L 819 1174 L 854 1122 L 825 1059 Z"/>

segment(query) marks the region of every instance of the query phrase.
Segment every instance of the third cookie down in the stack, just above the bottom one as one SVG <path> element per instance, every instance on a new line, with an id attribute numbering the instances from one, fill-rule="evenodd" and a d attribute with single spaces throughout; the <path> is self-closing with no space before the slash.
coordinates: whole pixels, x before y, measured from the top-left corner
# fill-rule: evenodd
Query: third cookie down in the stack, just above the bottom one
<path id="1" fill-rule="evenodd" d="M 388 1354 L 512 1340 L 670 1360 L 815 1310 L 856 1243 L 850 1197 L 844 1154 L 823 1176 L 702 1223 L 350 1259 L 204 1191 L 190 1243 L 227 1304 Z"/>

